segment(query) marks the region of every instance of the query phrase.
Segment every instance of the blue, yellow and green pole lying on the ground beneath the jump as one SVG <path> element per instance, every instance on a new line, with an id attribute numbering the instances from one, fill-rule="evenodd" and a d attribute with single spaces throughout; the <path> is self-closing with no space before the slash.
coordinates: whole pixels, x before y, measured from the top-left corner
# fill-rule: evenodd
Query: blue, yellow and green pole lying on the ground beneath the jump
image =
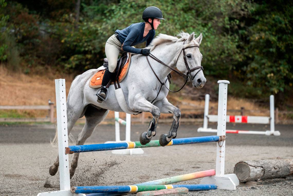
<path id="1" fill-rule="evenodd" d="M 189 191 L 217 189 L 214 184 L 190 184 L 190 185 L 130 185 L 130 186 L 73 186 L 71 193 L 134 193 L 151 190 L 188 188 Z"/>

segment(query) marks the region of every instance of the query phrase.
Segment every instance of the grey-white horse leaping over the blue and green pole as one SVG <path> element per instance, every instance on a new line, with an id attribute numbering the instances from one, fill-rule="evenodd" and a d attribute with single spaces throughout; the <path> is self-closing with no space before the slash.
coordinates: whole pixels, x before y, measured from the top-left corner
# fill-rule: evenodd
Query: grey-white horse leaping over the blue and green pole
<path id="1" fill-rule="evenodd" d="M 159 34 L 152 41 L 151 47 L 147 48 L 150 48 L 151 54 L 165 65 L 171 68 L 177 67 L 181 73 L 185 74 L 185 78 L 192 80 L 193 87 L 202 88 L 206 79 L 201 67 L 202 54 L 199 50 L 201 41 L 202 34 L 196 39 L 194 33 L 182 32 L 177 37 Z M 150 112 L 153 116 L 149 129 L 140 135 L 140 142 L 143 145 L 147 144 L 151 137 L 156 134 L 156 125 L 161 113 L 173 114 L 174 120 L 168 135 L 162 134 L 160 136 L 160 144 L 165 146 L 172 138 L 176 137 L 181 112 L 166 98 L 169 92 L 167 76 L 172 70 L 165 65 L 149 56 L 146 58 L 142 55 L 133 55 L 127 76 L 120 83 L 128 107 L 132 111 Z M 94 73 L 96 73 L 96 69 L 88 70 L 76 76 L 67 97 L 68 133 L 79 118 L 83 116 L 86 118 L 86 123 L 78 135 L 76 145 L 84 144 L 96 126 L 107 116 L 109 110 L 125 112 L 115 97 L 114 85 L 109 86 L 107 100 L 102 103 L 96 101 L 97 89 L 88 85 Z M 162 86 L 159 80 L 165 82 L 165 85 Z M 57 142 L 57 132 L 52 143 L 54 142 Z M 75 153 L 71 163 L 70 177 L 74 175 L 78 158 L 79 153 Z M 59 158 L 57 157 L 49 170 L 52 176 L 57 173 L 58 166 Z"/>

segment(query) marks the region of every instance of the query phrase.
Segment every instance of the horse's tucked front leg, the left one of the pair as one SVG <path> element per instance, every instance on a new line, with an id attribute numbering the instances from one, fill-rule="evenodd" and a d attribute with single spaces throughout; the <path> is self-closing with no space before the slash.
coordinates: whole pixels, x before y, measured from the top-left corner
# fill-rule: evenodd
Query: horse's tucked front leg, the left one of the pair
<path id="1" fill-rule="evenodd" d="M 133 103 L 130 104 L 130 108 L 133 111 L 150 112 L 153 115 L 153 119 L 149 123 L 148 130 L 142 132 L 139 136 L 139 142 L 142 145 L 146 145 L 151 141 L 151 138 L 156 135 L 156 128 L 159 117 L 161 115 L 160 110 L 157 106 L 154 106 L 149 101 L 147 101 L 147 99 L 145 99 L 142 94 L 137 94 L 134 97 Z"/>

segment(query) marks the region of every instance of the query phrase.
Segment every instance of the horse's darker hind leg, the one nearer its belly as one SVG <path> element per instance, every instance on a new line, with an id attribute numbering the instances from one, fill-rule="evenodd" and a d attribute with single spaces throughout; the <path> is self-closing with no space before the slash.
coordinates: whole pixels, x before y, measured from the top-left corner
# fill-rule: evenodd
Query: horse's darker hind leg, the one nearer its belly
<path id="1" fill-rule="evenodd" d="M 84 116 L 86 117 L 86 123 L 81 133 L 79 133 L 78 135 L 76 145 L 83 145 L 86 139 L 92 135 L 96 126 L 101 121 L 104 120 L 104 118 L 108 115 L 108 113 L 109 113 L 109 110 L 106 110 L 106 109 L 99 110 L 93 106 L 88 106 L 84 114 Z M 72 176 L 75 173 L 75 169 L 78 163 L 78 158 L 79 158 L 79 153 L 74 153 L 74 157 L 71 162 L 71 168 L 70 168 L 70 178 L 72 178 Z"/>

